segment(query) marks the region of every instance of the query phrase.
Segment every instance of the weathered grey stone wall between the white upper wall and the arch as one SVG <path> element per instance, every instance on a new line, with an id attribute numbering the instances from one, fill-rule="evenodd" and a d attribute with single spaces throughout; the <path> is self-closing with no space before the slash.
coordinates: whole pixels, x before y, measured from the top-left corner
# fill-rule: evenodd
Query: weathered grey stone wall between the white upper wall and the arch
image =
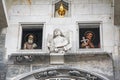
<path id="1" fill-rule="evenodd" d="M 50 57 L 50 56 L 49 56 Z M 50 64 L 50 59 L 48 55 L 40 56 L 34 59 L 33 62 L 15 62 L 13 64 L 8 65 L 8 72 L 7 72 L 7 80 L 13 80 L 13 78 L 17 79 L 18 76 L 25 76 L 28 75 L 26 73 L 49 68 L 60 68 L 60 67 L 69 67 L 78 70 L 85 70 L 89 73 L 94 73 L 99 76 L 104 76 L 109 80 L 114 80 L 114 73 L 113 73 L 113 60 L 110 55 L 103 53 L 103 54 L 65 54 L 64 56 L 64 63 L 63 64 Z M 37 59 L 37 60 L 36 60 Z M 13 59 L 11 59 L 13 60 Z M 15 61 L 15 60 L 14 60 Z M 13 62 L 14 62 L 13 61 Z M 59 61 L 58 61 L 59 63 Z M 31 76 L 27 77 L 27 79 L 31 79 Z M 21 77 L 24 78 L 24 77 Z M 25 79 L 25 80 L 27 80 Z M 33 78 L 32 78 L 33 79 Z"/>

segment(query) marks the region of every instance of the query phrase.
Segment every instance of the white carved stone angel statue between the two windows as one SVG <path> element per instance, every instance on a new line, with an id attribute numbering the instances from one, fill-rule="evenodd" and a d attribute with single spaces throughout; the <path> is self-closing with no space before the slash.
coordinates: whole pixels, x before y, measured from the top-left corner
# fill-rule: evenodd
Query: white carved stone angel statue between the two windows
<path id="1" fill-rule="evenodd" d="M 48 36 L 47 46 L 50 53 L 65 53 L 72 47 L 72 44 L 69 35 L 66 37 L 60 29 L 55 29 L 53 36 Z"/>

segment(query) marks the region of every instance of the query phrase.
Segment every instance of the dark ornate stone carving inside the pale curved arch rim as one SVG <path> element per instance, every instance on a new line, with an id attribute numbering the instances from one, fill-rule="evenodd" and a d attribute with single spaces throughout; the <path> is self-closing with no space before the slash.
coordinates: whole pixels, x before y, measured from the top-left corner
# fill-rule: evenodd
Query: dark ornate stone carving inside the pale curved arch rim
<path id="1" fill-rule="evenodd" d="M 34 78 L 37 80 L 43 80 L 46 78 L 58 78 L 58 77 L 71 77 L 71 79 L 75 80 L 103 80 L 95 75 L 92 75 L 87 72 L 79 71 L 79 70 L 70 70 L 70 69 L 53 69 L 43 72 L 38 72 L 33 74 Z"/>

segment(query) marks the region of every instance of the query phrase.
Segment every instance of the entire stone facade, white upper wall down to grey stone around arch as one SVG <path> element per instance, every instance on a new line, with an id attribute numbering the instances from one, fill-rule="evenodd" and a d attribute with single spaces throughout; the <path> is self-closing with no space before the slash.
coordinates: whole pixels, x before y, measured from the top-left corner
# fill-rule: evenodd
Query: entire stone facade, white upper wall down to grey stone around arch
<path id="1" fill-rule="evenodd" d="M 5 0 L 9 25 L 6 41 L 0 38 L 1 46 L 5 41 L 6 53 L 4 47 L 4 49 L 0 48 L 0 52 L 5 53 L 8 65 L 7 80 L 32 80 L 36 73 L 53 69 L 59 71 L 63 68 L 88 72 L 103 80 L 119 80 L 117 69 L 119 68 L 119 60 L 117 60 L 119 28 L 114 26 L 113 2 L 111 0 L 65 1 L 70 3 L 70 14 L 58 18 L 54 17 L 56 0 L 31 0 L 30 3 L 27 0 Z M 79 49 L 78 23 L 100 23 L 100 49 Z M 21 24 L 44 24 L 42 49 L 21 50 Z M 61 29 L 62 32 L 72 31 L 72 47 L 60 58 L 63 61 L 61 64 L 59 61 L 59 64 L 51 64 L 51 55 L 47 47 L 48 35 L 56 28 Z M 4 56 L 4 54 L 0 55 Z M 25 58 L 30 55 L 33 56 L 32 61 Z M 17 56 L 22 56 L 24 59 L 18 61 Z M 3 57 L 0 60 L 3 60 Z"/>

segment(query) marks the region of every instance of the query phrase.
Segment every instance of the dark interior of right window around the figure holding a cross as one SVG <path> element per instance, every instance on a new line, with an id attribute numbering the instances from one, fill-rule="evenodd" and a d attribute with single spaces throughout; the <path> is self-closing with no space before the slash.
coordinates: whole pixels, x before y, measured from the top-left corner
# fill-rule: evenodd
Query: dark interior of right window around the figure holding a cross
<path id="1" fill-rule="evenodd" d="M 94 44 L 95 48 L 100 48 L 100 28 L 99 28 L 99 24 L 98 25 L 92 25 L 92 24 L 81 24 L 79 25 L 79 48 L 81 47 L 81 40 L 82 37 L 85 36 L 85 33 L 87 31 L 93 32 L 93 38 L 92 38 L 92 43 Z"/>

